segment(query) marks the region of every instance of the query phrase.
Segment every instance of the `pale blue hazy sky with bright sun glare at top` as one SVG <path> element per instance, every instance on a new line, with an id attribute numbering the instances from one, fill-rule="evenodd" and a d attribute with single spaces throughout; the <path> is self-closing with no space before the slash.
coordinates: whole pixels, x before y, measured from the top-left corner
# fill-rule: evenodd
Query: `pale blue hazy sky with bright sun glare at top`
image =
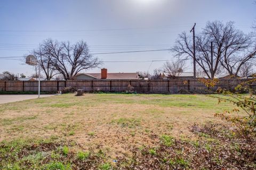
<path id="1" fill-rule="evenodd" d="M 108 72 L 152 73 L 165 62 L 152 60 L 173 60 L 174 55 L 170 51 L 95 53 L 168 49 L 195 22 L 195 31 L 207 21 L 220 20 L 234 21 L 236 28 L 249 33 L 256 4 L 253 0 L 1 0 L 0 18 L 0 57 L 26 56 L 46 38 L 83 40 Z M 34 73 L 34 67 L 10 59 L 0 59 L 0 72 Z M 191 65 L 188 61 L 185 71 L 192 71 Z M 100 72 L 100 68 L 83 72 Z"/>

